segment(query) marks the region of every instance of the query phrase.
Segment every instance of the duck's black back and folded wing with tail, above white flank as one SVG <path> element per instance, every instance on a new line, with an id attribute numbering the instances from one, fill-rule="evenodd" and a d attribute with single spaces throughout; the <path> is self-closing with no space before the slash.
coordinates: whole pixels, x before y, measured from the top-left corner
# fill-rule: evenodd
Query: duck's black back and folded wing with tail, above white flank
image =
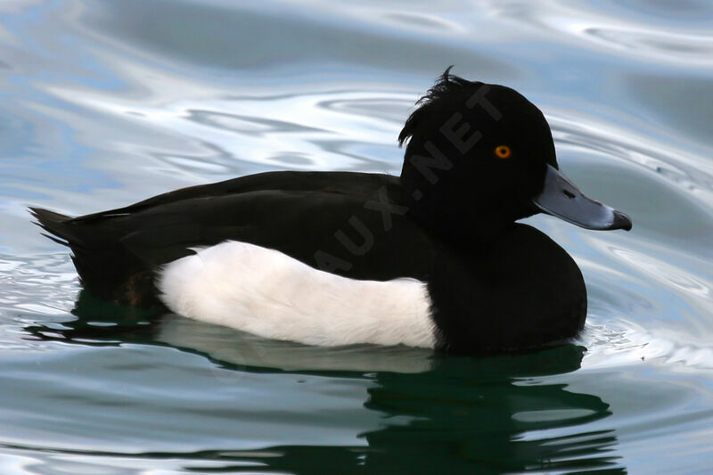
<path id="1" fill-rule="evenodd" d="M 85 287 L 122 300 L 191 248 L 250 242 L 356 279 L 425 279 L 440 244 L 406 216 L 398 178 L 274 172 L 168 192 L 84 217 L 34 210 L 66 242 Z M 129 299 L 132 300 L 132 299 Z"/>

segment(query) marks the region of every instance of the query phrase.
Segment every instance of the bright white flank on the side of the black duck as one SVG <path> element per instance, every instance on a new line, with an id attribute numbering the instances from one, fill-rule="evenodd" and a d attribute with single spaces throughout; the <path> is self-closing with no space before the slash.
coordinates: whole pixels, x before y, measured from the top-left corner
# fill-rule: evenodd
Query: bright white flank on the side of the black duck
<path id="1" fill-rule="evenodd" d="M 176 314 L 308 345 L 433 348 L 426 284 L 357 281 L 277 250 L 228 241 L 164 266 L 161 299 Z"/>

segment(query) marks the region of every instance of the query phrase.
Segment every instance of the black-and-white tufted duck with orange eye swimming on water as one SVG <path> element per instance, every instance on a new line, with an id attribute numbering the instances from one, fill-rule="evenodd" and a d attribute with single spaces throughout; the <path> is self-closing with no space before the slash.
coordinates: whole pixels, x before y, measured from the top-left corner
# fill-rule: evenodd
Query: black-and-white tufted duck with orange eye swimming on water
<path id="1" fill-rule="evenodd" d="M 87 291 L 266 338 L 460 353 L 569 339 L 585 323 L 582 274 L 516 221 L 631 221 L 561 174 L 535 105 L 449 70 L 398 137 L 401 176 L 269 172 L 82 217 L 32 212 Z"/>

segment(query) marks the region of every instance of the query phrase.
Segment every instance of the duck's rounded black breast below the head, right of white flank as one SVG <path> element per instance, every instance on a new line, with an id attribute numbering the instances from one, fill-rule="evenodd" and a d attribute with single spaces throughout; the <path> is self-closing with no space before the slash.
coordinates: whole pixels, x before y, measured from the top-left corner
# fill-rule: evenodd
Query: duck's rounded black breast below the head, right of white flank
<path id="1" fill-rule="evenodd" d="M 537 348 L 574 337 L 586 319 L 577 264 L 528 225 L 468 257 L 439 259 L 429 291 L 438 348 L 452 352 Z"/>

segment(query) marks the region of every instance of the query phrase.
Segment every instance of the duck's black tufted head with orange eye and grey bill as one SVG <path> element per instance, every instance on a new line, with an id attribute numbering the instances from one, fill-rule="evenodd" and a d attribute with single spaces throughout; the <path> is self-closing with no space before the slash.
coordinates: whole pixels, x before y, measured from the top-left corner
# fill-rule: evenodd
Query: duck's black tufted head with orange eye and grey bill
<path id="1" fill-rule="evenodd" d="M 629 229 L 626 215 L 586 198 L 558 169 L 545 116 L 506 86 L 450 68 L 398 136 L 401 181 L 414 218 L 454 242 L 488 242 L 545 211 L 591 229 Z"/>

